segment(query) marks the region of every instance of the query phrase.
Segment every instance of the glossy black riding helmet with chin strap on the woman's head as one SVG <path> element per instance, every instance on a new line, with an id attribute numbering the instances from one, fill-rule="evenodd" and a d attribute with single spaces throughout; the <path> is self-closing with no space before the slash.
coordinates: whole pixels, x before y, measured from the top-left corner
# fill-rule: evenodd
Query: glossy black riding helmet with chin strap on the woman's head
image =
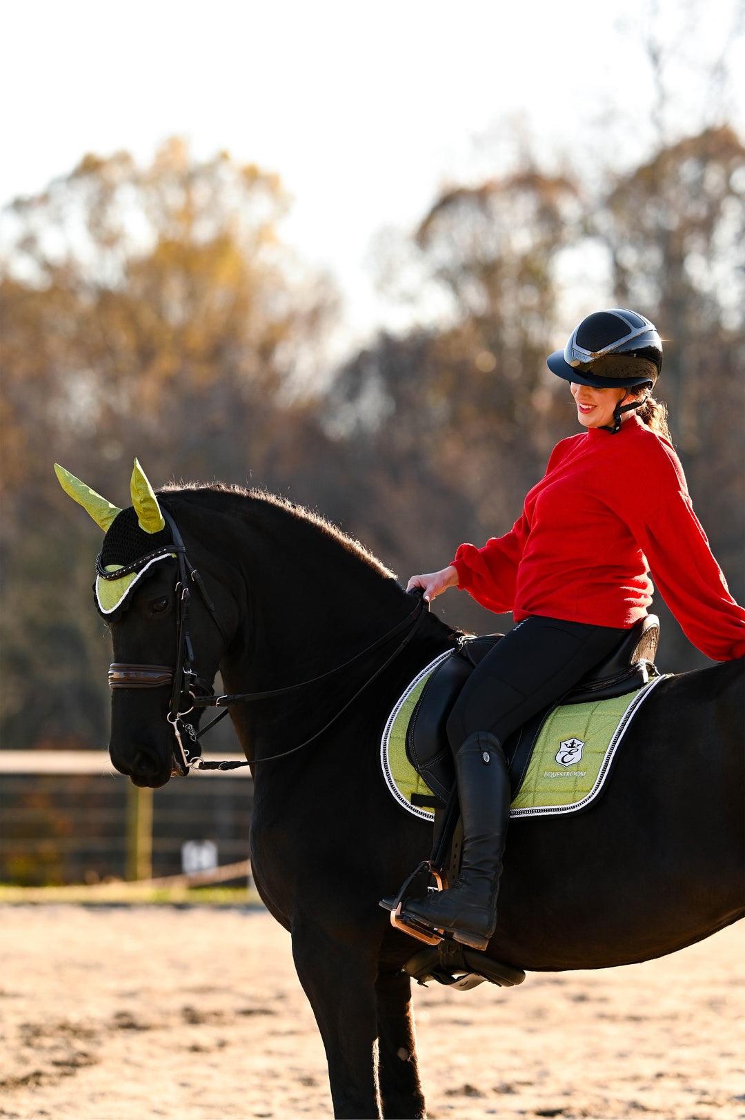
<path id="1" fill-rule="evenodd" d="M 583 319 L 569 335 L 564 351 L 555 351 L 546 364 L 558 377 L 579 385 L 594 389 L 646 385 L 649 395 L 662 368 L 662 342 L 650 319 L 625 307 L 613 307 L 594 311 Z M 642 403 L 618 402 L 608 431 L 616 435 L 621 430 L 622 413 Z"/>

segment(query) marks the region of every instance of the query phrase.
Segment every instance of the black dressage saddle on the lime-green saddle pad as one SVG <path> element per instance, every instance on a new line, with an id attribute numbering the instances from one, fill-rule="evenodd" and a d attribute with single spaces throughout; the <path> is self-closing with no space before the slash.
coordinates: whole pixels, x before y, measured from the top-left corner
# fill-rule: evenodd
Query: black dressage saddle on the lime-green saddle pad
<path id="1" fill-rule="evenodd" d="M 427 681 L 409 721 L 406 749 L 409 762 L 421 774 L 435 796 L 413 794 L 412 804 L 422 809 L 445 808 L 455 784 L 453 754 L 446 732 L 448 716 L 471 673 L 502 637 L 503 634 L 484 634 L 481 637 L 465 638 Z M 613 653 L 557 703 L 608 700 L 646 684 L 650 678 L 658 675 L 654 652 L 659 638 L 660 619 L 656 615 L 640 618 Z M 513 796 L 528 769 L 536 737 L 548 711 L 555 707 L 557 704 L 538 712 L 504 744 Z"/>

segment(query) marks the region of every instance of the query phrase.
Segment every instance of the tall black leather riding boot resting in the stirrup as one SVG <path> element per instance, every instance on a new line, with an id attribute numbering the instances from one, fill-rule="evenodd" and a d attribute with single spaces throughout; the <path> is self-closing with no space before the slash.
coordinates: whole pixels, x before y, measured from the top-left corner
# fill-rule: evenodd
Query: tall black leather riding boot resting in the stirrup
<path id="1" fill-rule="evenodd" d="M 448 890 L 411 898 L 401 917 L 451 933 L 473 949 L 486 949 L 496 926 L 496 895 L 510 820 L 510 775 L 497 738 L 475 731 L 455 756 L 463 819 L 460 874 Z"/>

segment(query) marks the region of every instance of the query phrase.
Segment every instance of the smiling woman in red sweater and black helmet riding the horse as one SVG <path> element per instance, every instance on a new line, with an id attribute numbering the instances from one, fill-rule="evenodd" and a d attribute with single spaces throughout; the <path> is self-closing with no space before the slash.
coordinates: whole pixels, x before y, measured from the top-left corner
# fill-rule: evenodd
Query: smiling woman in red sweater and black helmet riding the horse
<path id="1" fill-rule="evenodd" d="M 473 671 L 447 724 L 464 829 L 458 879 L 400 912 L 475 949 L 486 948 L 496 926 L 510 816 L 502 744 L 646 614 L 648 571 L 707 656 L 745 654 L 745 610 L 709 550 L 667 410 L 651 395 L 662 366 L 654 325 L 625 309 L 596 311 L 548 366 L 570 382 L 587 431 L 555 447 L 509 533 L 483 549 L 462 544 L 451 564 L 413 576 L 408 588 L 423 588 L 431 601 L 457 586 L 491 610 L 511 610 L 516 623 Z"/>

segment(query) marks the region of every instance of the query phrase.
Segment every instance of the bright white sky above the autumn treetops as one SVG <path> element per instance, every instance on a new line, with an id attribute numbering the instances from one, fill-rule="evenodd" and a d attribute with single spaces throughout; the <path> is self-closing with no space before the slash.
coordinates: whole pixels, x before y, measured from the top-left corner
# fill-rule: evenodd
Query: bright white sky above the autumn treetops
<path id="1" fill-rule="evenodd" d="M 671 58 L 670 136 L 708 123 L 709 63 L 737 12 L 743 0 L 0 0 L 0 205 L 86 151 L 149 160 L 175 133 L 198 157 L 227 149 L 282 177 L 283 236 L 335 277 L 348 345 L 397 321 L 374 289 L 378 231 L 412 226 L 446 180 L 504 169 L 515 119 L 541 158 L 569 151 L 590 175 L 648 153 L 650 26 Z M 728 62 L 742 133 L 742 35 Z"/>

